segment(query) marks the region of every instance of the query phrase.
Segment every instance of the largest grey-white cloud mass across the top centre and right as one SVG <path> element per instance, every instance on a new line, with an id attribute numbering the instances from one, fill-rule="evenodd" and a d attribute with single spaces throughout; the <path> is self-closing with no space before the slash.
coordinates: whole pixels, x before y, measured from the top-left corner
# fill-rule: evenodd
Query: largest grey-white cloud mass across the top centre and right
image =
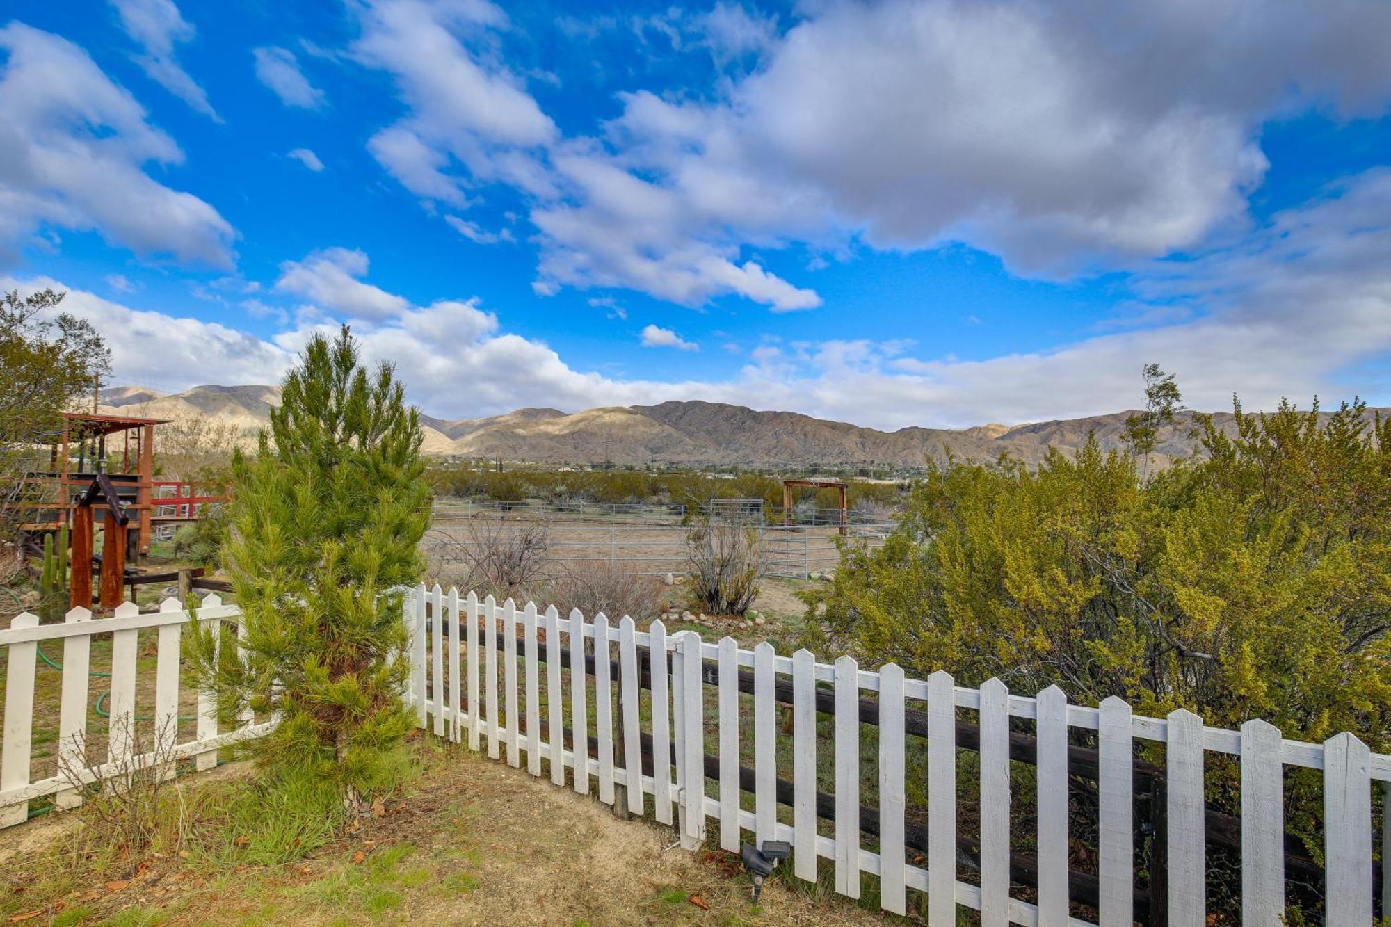
<path id="1" fill-rule="evenodd" d="M 714 99 L 620 95 L 595 138 L 559 138 L 485 40 L 501 15 L 448 10 L 384 0 L 363 15 L 359 60 L 395 74 L 409 107 L 373 150 L 428 199 L 516 187 L 541 232 L 541 291 L 815 306 L 750 253 L 787 242 L 964 241 L 1034 276 L 1124 267 L 1249 223 L 1270 118 L 1391 102 L 1391 7 L 1363 0 L 821 0 L 783 33 L 721 3 L 604 28 L 757 53 L 757 70 Z"/>

